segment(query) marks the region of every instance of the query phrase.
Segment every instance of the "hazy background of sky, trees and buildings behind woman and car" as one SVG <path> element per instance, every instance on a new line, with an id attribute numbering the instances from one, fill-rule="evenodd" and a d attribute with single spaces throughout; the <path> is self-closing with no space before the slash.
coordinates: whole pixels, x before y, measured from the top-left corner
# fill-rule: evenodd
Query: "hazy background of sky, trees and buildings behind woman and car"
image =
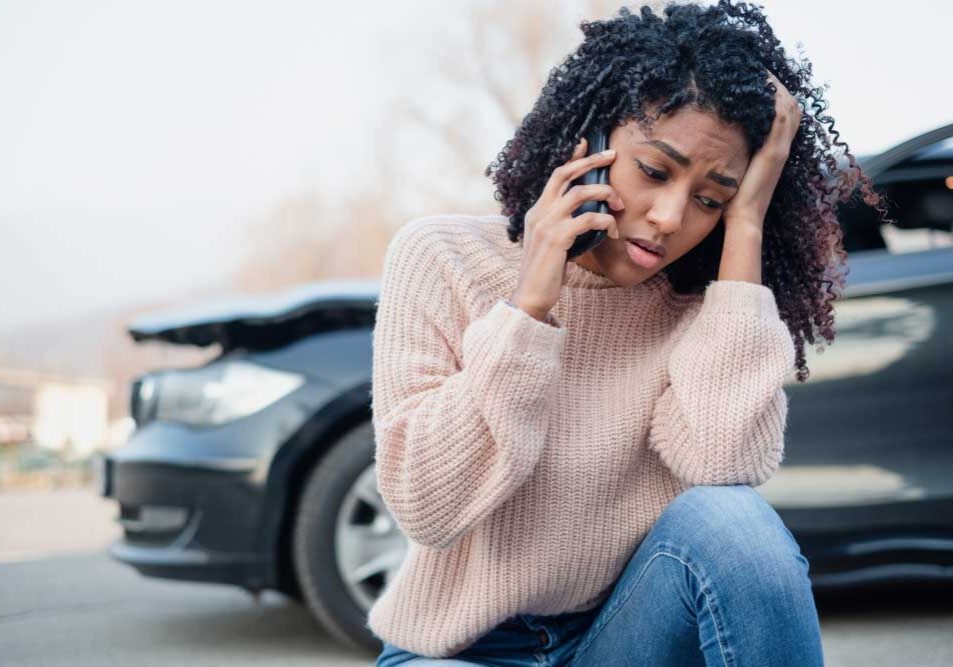
<path id="1" fill-rule="evenodd" d="M 762 4 L 855 155 L 953 121 L 949 3 Z M 220 352 L 132 320 L 374 279 L 408 220 L 498 213 L 484 168 L 619 6 L 0 4 L 0 568 L 117 537 L 93 461 L 134 431 L 131 383 Z"/>

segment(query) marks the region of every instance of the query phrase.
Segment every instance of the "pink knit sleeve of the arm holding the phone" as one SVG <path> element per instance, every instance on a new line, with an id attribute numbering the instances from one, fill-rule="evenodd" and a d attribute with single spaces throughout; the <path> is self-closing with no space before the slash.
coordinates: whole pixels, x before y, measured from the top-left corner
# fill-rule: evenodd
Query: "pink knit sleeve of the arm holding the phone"
<path id="1" fill-rule="evenodd" d="M 467 322 L 436 229 L 410 223 L 388 246 L 371 393 L 378 491 L 408 538 L 444 549 L 535 468 L 566 331 L 503 298 Z"/>

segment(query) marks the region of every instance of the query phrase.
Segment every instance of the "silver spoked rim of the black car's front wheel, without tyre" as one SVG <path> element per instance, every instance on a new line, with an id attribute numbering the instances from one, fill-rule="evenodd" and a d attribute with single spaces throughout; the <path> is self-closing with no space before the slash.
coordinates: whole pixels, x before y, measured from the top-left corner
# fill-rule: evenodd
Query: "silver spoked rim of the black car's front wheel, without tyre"
<path id="1" fill-rule="evenodd" d="M 373 464 L 358 476 L 341 502 L 334 550 L 341 581 L 367 612 L 407 553 L 407 538 L 377 492 Z"/>

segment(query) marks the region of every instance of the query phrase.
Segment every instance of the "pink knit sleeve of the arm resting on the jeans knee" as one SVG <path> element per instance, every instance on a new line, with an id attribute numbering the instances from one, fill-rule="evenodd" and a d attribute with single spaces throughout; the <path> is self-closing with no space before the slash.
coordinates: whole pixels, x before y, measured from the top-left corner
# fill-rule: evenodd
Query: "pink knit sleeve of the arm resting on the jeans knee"
<path id="1" fill-rule="evenodd" d="M 668 359 L 649 447 L 689 485 L 759 486 L 784 456 L 794 343 L 774 293 L 738 280 L 709 283 Z"/>

